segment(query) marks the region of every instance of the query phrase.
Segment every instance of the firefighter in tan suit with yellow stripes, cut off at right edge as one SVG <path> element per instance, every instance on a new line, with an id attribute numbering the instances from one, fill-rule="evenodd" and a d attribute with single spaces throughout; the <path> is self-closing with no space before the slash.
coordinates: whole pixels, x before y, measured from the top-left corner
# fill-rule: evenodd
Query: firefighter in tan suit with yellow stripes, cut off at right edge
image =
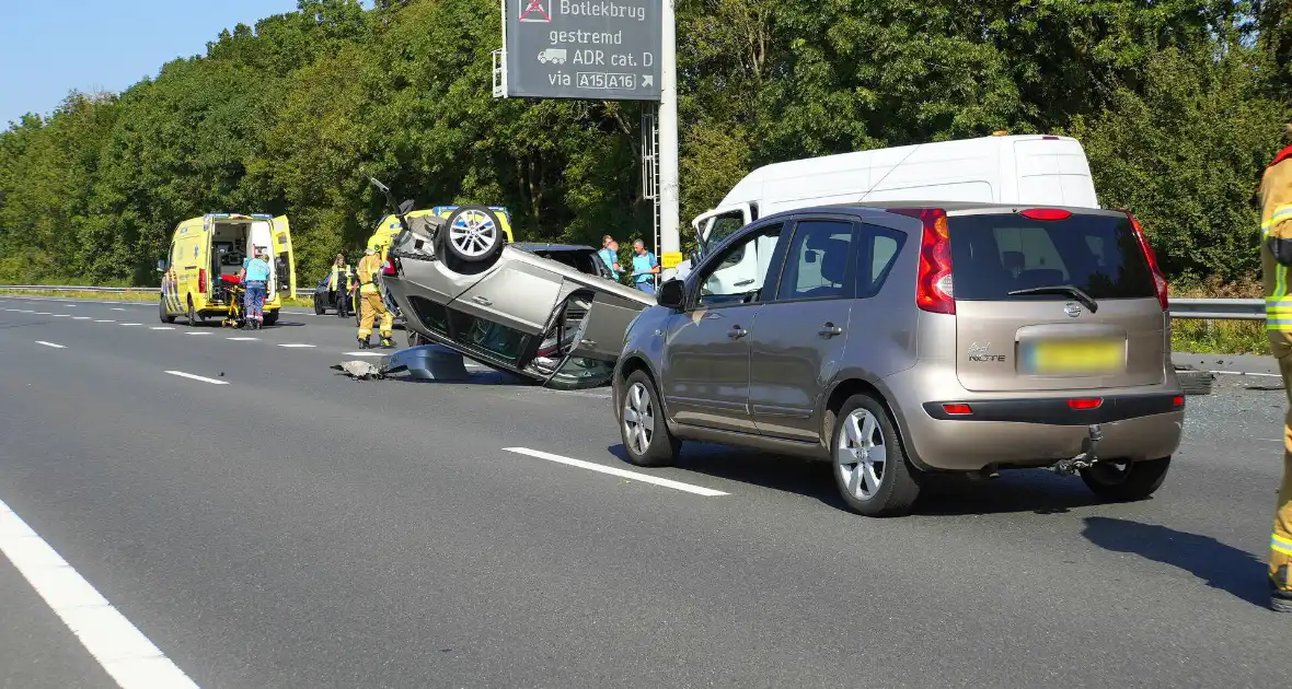
<path id="1" fill-rule="evenodd" d="M 1292 141 L 1292 124 L 1288 125 Z M 1279 361 L 1283 387 L 1292 405 L 1292 146 L 1261 178 L 1261 274 L 1265 283 L 1265 332 Z M 1270 606 L 1292 613 L 1292 409 L 1283 422 L 1283 485 L 1279 488 L 1274 533 L 1270 534 Z"/>

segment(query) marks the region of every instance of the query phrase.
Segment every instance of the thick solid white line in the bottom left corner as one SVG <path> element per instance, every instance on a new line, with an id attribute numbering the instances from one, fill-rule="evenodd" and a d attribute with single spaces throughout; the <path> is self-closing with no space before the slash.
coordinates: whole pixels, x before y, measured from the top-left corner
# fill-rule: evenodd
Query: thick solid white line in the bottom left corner
<path id="1" fill-rule="evenodd" d="M 193 688 L 162 649 L 0 501 L 0 552 L 121 689 Z"/>

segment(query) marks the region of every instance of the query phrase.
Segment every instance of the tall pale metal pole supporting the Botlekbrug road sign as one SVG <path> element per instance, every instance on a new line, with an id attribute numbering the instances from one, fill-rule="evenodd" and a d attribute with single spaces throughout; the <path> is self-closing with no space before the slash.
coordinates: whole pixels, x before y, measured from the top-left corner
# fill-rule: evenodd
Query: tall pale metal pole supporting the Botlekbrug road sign
<path id="1" fill-rule="evenodd" d="M 662 0 L 663 22 L 660 36 L 663 49 L 660 55 L 660 95 L 659 95 L 659 235 L 660 254 L 682 250 L 678 223 L 681 217 L 677 150 L 677 21 L 673 15 L 673 0 Z M 674 268 L 662 271 L 668 280 L 677 272 Z"/>

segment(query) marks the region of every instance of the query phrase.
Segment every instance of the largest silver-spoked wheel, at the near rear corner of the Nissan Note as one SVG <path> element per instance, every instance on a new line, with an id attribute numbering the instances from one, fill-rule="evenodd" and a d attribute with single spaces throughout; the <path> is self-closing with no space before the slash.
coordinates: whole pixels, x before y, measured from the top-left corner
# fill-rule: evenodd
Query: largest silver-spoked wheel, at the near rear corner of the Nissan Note
<path id="1" fill-rule="evenodd" d="M 920 474 L 906 459 L 888 409 L 870 395 L 853 395 L 835 424 L 835 485 L 844 502 L 873 517 L 903 516 L 920 495 Z"/>

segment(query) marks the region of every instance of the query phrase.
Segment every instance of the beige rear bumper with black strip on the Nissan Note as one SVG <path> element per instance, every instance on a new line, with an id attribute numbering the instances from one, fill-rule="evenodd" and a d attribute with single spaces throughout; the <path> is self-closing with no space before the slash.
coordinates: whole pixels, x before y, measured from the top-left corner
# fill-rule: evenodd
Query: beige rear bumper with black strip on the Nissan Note
<path id="1" fill-rule="evenodd" d="M 1158 459 L 1173 454 L 1183 434 L 1183 394 L 1173 375 L 1163 384 L 1116 394 L 1056 391 L 994 396 L 961 395 L 947 388 L 944 379 L 935 390 L 902 384 L 893 388 L 904 448 L 925 470 L 1052 466 L 1080 454 L 1093 424 L 1103 434 L 1098 445 L 1101 458 Z M 1096 399 L 1099 400 L 1096 408 L 1072 408 L 1075 400 L 1076 406 L 1087 406 Z M 969 413 L 944 405 L 968 405 Z"/>

